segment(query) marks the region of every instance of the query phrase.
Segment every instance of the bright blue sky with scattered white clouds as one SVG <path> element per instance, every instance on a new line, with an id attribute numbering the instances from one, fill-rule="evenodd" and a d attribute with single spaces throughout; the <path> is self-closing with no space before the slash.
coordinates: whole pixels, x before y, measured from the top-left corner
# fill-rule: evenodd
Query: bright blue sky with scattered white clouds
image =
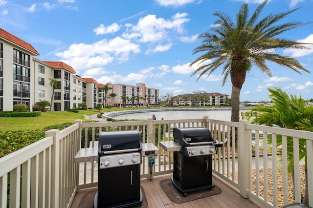
<path id="1" fill-rule="evenodd" d="M 173 95 L 194 91 L 231 95 L 222 69 L 214 74 L 190 77 L 195 68 L 192 54 L 201 44 L 197 36 L 214 25 L 212 14 L 223 11 L 235 21 L 243 3 L 250 13 L 263 0 L 0 0 L 0 27 L 32 44 L 42 61 L 63 61 L 77 75 L 98 83 L 145 83 Z M 313 0 L 270 0 L 262 14 L 276 14 L 296 7 L 284 18 L 313 21 Z M 283 33 L 293 41 L 313 43 L 313 24 Z M 268 87 L 313 98 L 313 45 L 306 50 L 281 50 L 295 57 L 312 74 L 268 63 L 272 77 L 252 67 L 246 76 L 240 101 L 269 101 Z M 196 82 L 197 81 L 197 82 Z"/>

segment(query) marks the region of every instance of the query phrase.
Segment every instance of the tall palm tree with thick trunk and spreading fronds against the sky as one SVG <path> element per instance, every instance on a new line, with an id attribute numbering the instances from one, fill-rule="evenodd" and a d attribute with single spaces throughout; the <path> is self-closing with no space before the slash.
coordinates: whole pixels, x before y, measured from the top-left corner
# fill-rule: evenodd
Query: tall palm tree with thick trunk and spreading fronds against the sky
<path id="1" fill-rule="evenodd" d="M 305 48 L 306 43 L 281 38 L 283 32 L 300 27 L 304 23 L 298 21 L 277 23 L 299 8 L 278 14 L 269 14 L 257 22 L 267 2 L 268 0 L 265 0 L 261 3 L 249 19 L 248 4 L 243 4 L 236 15 L 235 23 L 224 12 L 213 13 L 219 18 L 215 21 L 216 26 L 211 29 L 211 32 L 205 32 L 199 36 L 203 39 L 202 44 L 193 50 L 193 54 L 205 52 L 189 65 L 199 63 L 198 68 L 191 74 L 193 76 L 200 73 L 197 81 L 207 72 L 209 73 L 206 76 L 210 76 L 220 66 L 223 66 L 223 86 L 230 75 L 232 83 L 231 121 L 233 122 L 239 122 L 240 91 L 245 82 L 246 73 L 251 70 L 252 64 L 268 76 L 271 76 L 271 71 L 266 65 L 266 61 L 287 66 L 299 74 L 301 74 L 299 69 L 310 73 L 296 59 L 275 53 L 276 49 Z M 212 62 L 205 62 L 209 60 Z"/>

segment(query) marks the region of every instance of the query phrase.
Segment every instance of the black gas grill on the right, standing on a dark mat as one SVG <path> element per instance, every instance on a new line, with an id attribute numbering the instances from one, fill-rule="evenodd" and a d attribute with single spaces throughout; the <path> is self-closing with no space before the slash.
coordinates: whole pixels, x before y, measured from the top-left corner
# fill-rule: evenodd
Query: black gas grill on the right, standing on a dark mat
<path id="1" fill-rule="evenodd" d="M 173 128 L 174 142 L 182 146 L 174 152 L 173 184 L 187 196 L 187 192 L 214 187 L 212 183 L 212 155 L 222 143 L 204 127 Z"/>

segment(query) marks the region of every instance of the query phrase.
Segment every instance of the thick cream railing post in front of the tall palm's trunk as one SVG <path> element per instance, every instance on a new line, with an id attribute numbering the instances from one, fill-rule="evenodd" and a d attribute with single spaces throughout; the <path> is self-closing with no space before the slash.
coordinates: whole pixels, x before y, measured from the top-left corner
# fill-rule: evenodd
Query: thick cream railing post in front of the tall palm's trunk
<path id="1" fill-rule="evenodd" d="M 248 133 L 246 130 L 246 124 L 248 121 L 239 121 L 238 130 L 238 184 L 240 185 L 240 195 L 244 198 L 248 198 L 247 188 L 249 184 L 249 152 L 248 152 Z"/>

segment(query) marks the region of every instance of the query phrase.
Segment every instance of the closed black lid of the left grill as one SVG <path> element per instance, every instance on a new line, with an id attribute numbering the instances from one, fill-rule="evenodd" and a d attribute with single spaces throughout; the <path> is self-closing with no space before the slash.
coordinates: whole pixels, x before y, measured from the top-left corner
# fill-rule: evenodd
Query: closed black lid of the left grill
<path id="1" fill-rule="evenodd" d="M 102 131 L 99 134 L 99 155 L 141 150 L 141 136 L 138 130 Z"/>

